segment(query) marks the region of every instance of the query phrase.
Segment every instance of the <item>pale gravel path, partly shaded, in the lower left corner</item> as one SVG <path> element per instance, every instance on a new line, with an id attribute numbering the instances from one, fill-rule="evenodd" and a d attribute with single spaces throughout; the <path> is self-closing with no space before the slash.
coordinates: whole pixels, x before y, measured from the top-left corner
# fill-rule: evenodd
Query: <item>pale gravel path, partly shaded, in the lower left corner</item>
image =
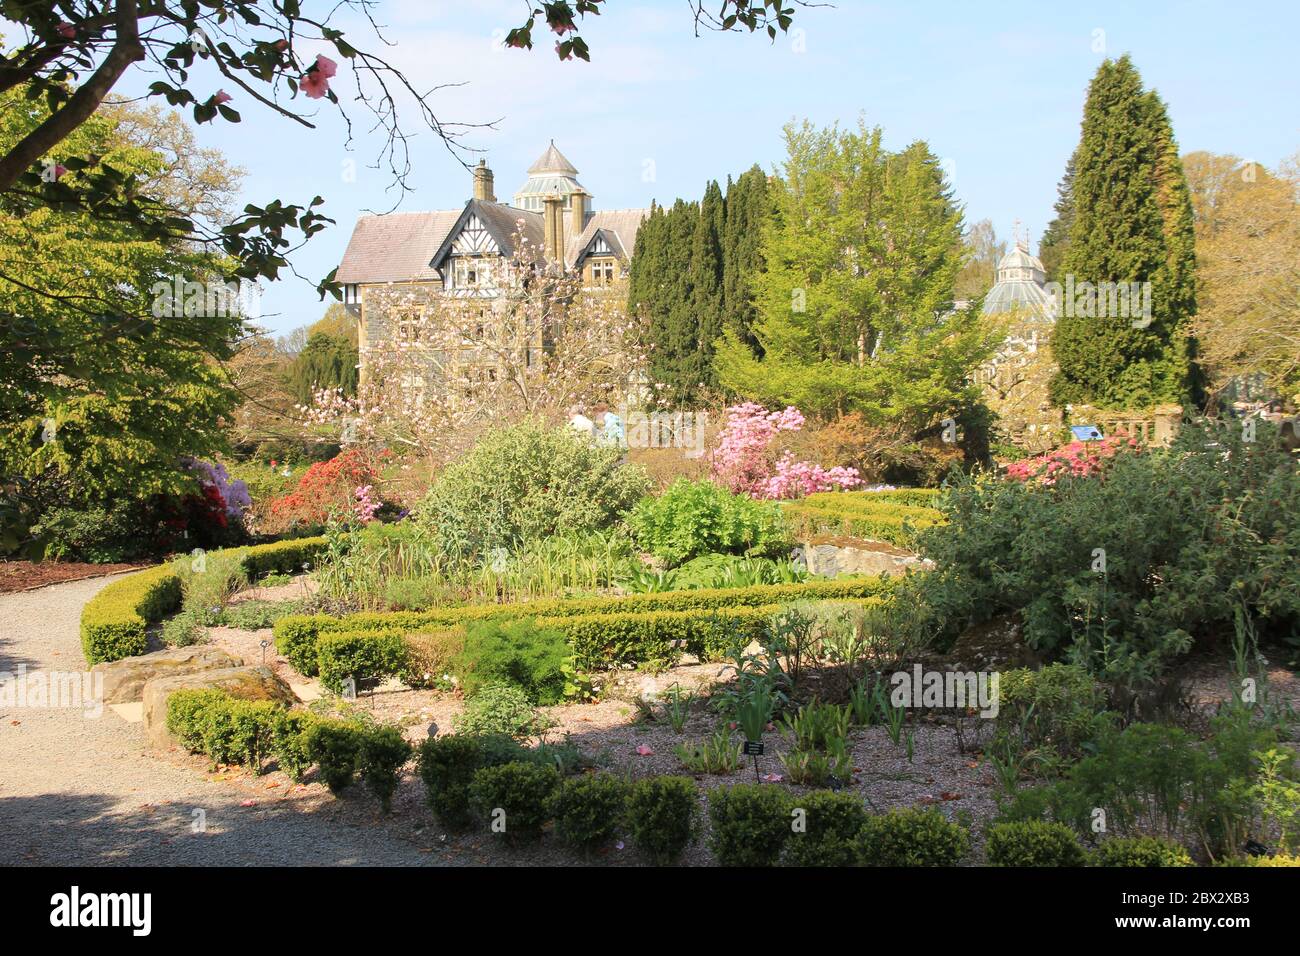
<path id="1" fill-rule="evenodd" d="M 82 606 L 107 579 L 0 594 L 0 671 L 86 669 Z M 252 806 L 251 797 L 256 799 Z M 112 710 L 0 702 L 5 862 L 31 865 L 438 865 L 382 827 L 268 800 L 144 750 L 140 723 Z M 280 804 L 280 805 L 277 805 Z M 203 810 L 207 829 L 194 832 Z"/>

